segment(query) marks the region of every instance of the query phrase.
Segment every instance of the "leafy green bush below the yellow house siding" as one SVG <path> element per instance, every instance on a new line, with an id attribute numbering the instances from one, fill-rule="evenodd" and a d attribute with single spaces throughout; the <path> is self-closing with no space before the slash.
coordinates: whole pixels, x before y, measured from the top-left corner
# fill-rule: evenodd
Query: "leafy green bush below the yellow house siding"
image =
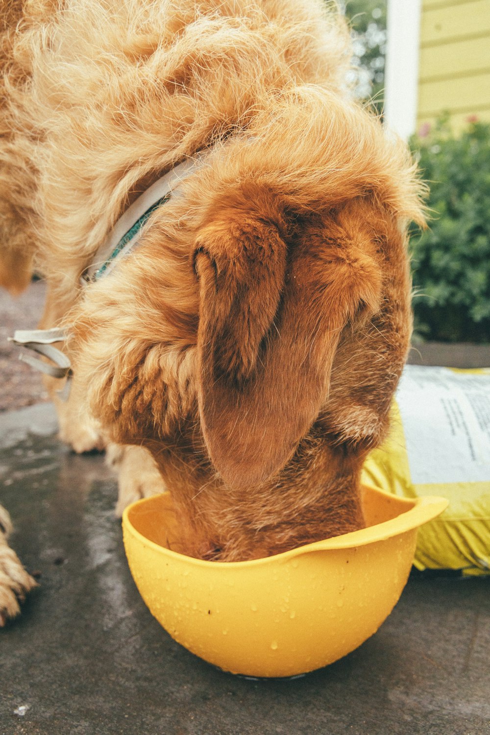
<path id="1" fill-rule="evenodd" d="M 415 333 L 490 341 L 490 124 L 447 120 L 411 140 L 430 186 L 429 228 L 412 237 Z"/>

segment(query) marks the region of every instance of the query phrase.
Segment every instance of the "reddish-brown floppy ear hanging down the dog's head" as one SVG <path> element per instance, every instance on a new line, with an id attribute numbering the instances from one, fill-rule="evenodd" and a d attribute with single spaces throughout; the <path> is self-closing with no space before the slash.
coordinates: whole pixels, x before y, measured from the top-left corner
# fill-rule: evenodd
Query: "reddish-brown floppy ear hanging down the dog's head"
<path id="1" fill-rule="evenodd" d="M 243 212 L 201 231 L 195 270 L 203 437 L 224 481 L 253 487 L 314 422 L 342 329 L 378 309 L 381 274 L 342 236 L 288 248 L 273 221 Z"/>

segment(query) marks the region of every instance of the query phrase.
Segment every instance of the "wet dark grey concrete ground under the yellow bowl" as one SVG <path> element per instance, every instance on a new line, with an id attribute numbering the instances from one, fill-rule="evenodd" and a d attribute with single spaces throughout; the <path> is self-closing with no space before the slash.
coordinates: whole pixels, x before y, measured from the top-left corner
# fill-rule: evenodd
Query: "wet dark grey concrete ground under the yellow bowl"
<path id="1" fill-rule="evenodd" d="M 414 575 L 377 634 L 293 681 L 192 656 L 131 580 L 101 456 L 49 404 L 0 415 L 1 501 L 39 578 L 0 631 L 0 735 L 488 735 L 490 578 Z"/>

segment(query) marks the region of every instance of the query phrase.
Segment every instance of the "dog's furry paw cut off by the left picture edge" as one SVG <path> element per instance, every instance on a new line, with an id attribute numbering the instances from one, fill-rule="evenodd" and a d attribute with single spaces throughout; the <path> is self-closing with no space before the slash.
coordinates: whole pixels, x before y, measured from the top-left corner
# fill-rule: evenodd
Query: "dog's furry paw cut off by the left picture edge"
<path id="1" fill-rule="evenodd" d="M 27 592 L 37 582 L 22 566 L 17 554 L 7 545 L 12 523 L 7 511 L 0 506 L 0 627 L 21 612 Z"/>

